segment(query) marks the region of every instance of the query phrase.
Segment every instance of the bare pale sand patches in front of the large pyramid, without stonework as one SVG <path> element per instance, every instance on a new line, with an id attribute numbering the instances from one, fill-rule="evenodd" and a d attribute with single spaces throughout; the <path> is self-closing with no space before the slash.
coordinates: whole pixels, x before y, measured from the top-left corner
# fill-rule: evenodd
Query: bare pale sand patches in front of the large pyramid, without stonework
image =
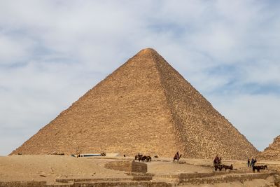
<path id="1" fill-rule="evenodd" d="M 120 178 L 126 179 L 125 172 L 106 169 L 106 162 L 112 160 L 133 160 L 123 157 L 102 158 L 74 158 L 67 155 L 11 155 L 0 157 L 0 181 L 47 181 L 54 183 L 55 179 L 65 178 Z M 148 172 L 160 175 L 172 175 L 180 173 L 208 173 L 213 172 L 212 160 L 182 159 L 185 164 L 173 163 L 172 158 L 158 158 L 148 162 Z M 223 163 L 235 168 L 251 172 L 246 167 L 246 161 L 227 160 Z M 271 168 L 280 168 L 280 162 L 260 162 L 260 164 L 272 165 Z M 256 179 L 245 183 L 227 183 L 226 186 L 265 186 L 271 184 L 269 179 Z M 267 184 L 267 185 L 268 185 Z M 207 184 L 200 186 L 225 186 L 225 183 Z"/>

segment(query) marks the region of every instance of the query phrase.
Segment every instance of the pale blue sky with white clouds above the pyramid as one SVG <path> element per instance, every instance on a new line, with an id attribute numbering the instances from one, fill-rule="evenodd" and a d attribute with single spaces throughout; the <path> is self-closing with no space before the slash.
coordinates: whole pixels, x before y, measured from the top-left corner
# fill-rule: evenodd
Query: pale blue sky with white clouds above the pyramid
<path id="1" fill-rule="evenodd" d="M 0 0 L 0 155 L 143 48 L 262 151 L 280 135 L 280 1 Z"/>

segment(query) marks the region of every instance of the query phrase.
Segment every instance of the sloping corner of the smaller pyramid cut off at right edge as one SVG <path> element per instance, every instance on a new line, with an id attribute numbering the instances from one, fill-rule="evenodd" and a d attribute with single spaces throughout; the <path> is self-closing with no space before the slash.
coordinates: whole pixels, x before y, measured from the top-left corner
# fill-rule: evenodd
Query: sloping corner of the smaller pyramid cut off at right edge
<path id="1" fill-rule="evenodd" d="M 269 144 L 269 146 L 258 155 L 258 158 L 262 160 L 280 160 L 280 135 L 274 138 L 273 143 Z"/>

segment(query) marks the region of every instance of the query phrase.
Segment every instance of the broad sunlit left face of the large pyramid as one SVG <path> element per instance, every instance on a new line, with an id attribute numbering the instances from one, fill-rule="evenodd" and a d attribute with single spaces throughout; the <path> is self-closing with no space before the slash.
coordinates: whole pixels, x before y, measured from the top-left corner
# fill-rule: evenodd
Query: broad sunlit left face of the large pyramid
<path id="1" fill-rule="evenodd" d="M 109 76 L 107 76 L 103 81 L 101 81 L 100 83 L 98 83 L 96 86 L 94 86 L 94 88 L 90 89 L 87 93 L 85 93 L 85 95 L 83 95 L 83 97 L 80 97 L 80 99 L 78 99 L 78 101 L 74 102 L 69 109 L 66 109 L 65 111 L 62 111 L 62 113 L 59 114 L 59 116 L 57 116 L 57 118 L 55 118 L 55 120 L 52 120 L 48 125 L 45 125 L 45 127 L 43 127 L 41 130 L 39 130 L 38 133 L 34 134 L 33 137 L 31 137 L 29 140 L 27 140 L 25 142 L 25 144 L 22 144 L 22 146 L 20 146 L 20 148 L 16 149 L 15 151 L 13 151 L 13 153 L 11 154 L 17 154 L 19 152 L 22 152 L 24 154 L 25 151 L 27 151 L 29 154 L 50 154 L 52 152 L 59 152 L 59 153 L 66 153 L 66 154 L 71 154 L 71 153 L 76 153 L 75 148 L 71 147 L 71 145 L 69 145 L 68 143 L 65 144 L 65 147 L 68 148 L 70 151 L 65 150 L 64 148 L 62 148 L 62 145 L 64 144 L 63 138 L 65 139 L 65 141 L 71 141 L 73 144 L 76 144 L 76 148 L 80 149 L 81 151 L 94 151 L 94 152 L 100 152 L 100 151 L 107 151 L 107 152 L 118 152 L 118 153 L 126 153 L 127 155 L 132 155 L 137 153 L 138 151 L 141 151 L 143 153 L 157 153 L 158 155 L 168 155 L 168 156 L 172 156 L 176 151 L 179 150 L 179 148 L 177 148 L 176 145 L 176 137 L 174 137 L 172 135 L 172 131 L 174 131 L 172 123 L 171 122 L 171 113 L 169 113 L 170 109 L 168 108 L 167 105 L 167 101 L 164 95 L 164 91 L 162 90 L 161 86 L 160 86 L 160 76 L 158 75 L 158 73 L 156 72 L 156 68 L 155 68 L 155 64 L 153 63 L 153 61 L 150 62 L 150 53 L 148 53 L 151 49 L 148 50 L 141 50 L 141 52 L 137 53 L 137 55 L 134 55 L 134 57 L 130 58 L 130 60 L 127 60 L 127 62 L 125 62 L 125 64 L 123 64 L 120 68 L 118 68 L 116 71 L 113 71 L 112 74 L 110 74 Z M 143 64 L 141 60 L 142 58 L 144 58 L 144 62 L 146 62 L 146 64 Z M 148 67 L 146 67 L 148 65 Z M 141 68 L 137 67 L 140 66 Z M 130 68 L 135 68 L 137 67 L 137 76 L 133 77 L 134 75 L 132 75 L 132 71 Z M 147 72 L 141 72 L 140 69 L 144 69 Z M 154 74 L 155 73 L 155 74 Z M 123 76 L 123 74 L 125 74 L 125 76 Z M 147 78 L 148 81 L 150 81 L 151 83 L 145 83 L 144 81 L 141 81 L 141 78 Z M 96 123 L 96 121 L 94 121 L 92 118 L 92 116 L 87 116 L 87 118 L 78 118 L 78 123 L 73 123 L 73 121 L 71 121 L 69 118 L 72 118 L 74 116 L 75 113 L 83 113 L 83 112 L 87 112 L 86 110 L 91 110 L 91 114 L 94 116 L 94 109 L 98 108 L 98 107 L 91 107 L 90 109 L 86 109 L 86 110 L 80 110 L 80 106 L 85 106 L 87 104 L 90 104 L 91 106 L 94 106 L 97 104 L 97 102 L 99 100 L 104 101 L 104 103 L 102 103 L 101 105 L 99 105 L 100 107 L 102 107 L 102 105 L 106 105 L 106 97 L 97 97 L 97 95 L 110 95 L 115 97 L 116 99 L 120 99 L 120 97 L 127 97 L 126 99 L 128 99 L 127 101 L 129 101 L 131 99 L 131 97 L 126 96 L 126 95 L 119 95 L 120 97 L 116 97 L 118 95 L 118 92 L 123 92 L 124 90 L 128 90 L 129 91 L 129 95 L 133 95 L 132 92 L 134 92 L 132 89 L 130 89 L 129 87 L 127 87 L 127 84 L 125 85 L 118 85 L 118 83 L 120 83 L 121 81 L 132 81 L 132 85 L 135 83 L 137 85 L 134 86 L 133 89 L 138 89 L 135 92 L 139 92 L 141 90 L 139 90 L 139 87 L 144 87 L 144 93 L 148 94 L 148 96 L 146 95 L 142 95 L 140 98 L 137 98 L 136 100 L 138 102 L 134 103 L 133 105 L 137 105 L 140 104 L 141 102 L 144 101 L 144 99 L 148 99 L 146 102 L 147 103 L 151 103 L 154 104 L 154 106 L 149 109 L 143 109 L 143 111 L 141 111 L 140 114 L 146 113 L 147 115 L 151 116 L 151 112 L 152 112 L 152 117 L 146 117 L 145 118 L 149 118 L 150 121 L 155 121 L 155 124 L 153 123 L 148 123 L 149 127 L 153 127 L 155 125 L 163 125 L 164 127 L 161 126 L 157 126 L 157 129 L 155 129 L 155 131 L 153 132 L 153 134 L 151 134 L 151 136 L 154 136 L 155 139 L 149 140 L 149 137 L 146 137 L 146 139 L 148 140 L 149 144 L 146 144 L 146 142 L 136 142 L 137 140 L 133 140 L 136 142 L 137 145 L 132 145 L 135 148 L 131 151 L 129 146 L 123 147 L 122 148 L 116 148 L 113 147 L 111 145 L 106 145 L 106 144 L 102 144 L 102 142 L 97 142 L 97 141 L 93 141 L 93 140 L 88 140 L 90 141 L 90 143 L 92 145 L 89 146 L 84 146 L 84 145 L 78 145 L 80 144 L 80 142 L 83 142 L 85 145 L 87 145 L 87 142 L 84 139 L 80 139 L 80 135 L 79 133 L 83 134 L 84 130 L 83 129 L 87 129 L 90 128 L 89 126 L 87 126 L 87 123 L 85 123 L 84 119 L 90 119 L 90 123 L 91 125 L 95 125 L 96 127 L 98 125 L 102 126 L 102 124 L 104 125 L 104 122 L 100 121 L 101 123 Z M 140 82 L 139 82 L 140 81 Z M 109 84 L 111 83 L 111 84 Z M 153 85 L 153 86 L 152 86 Z M 103 89 L 104 87 L 106 87 L 106 89 Z M 115 89 L 114 87 L 118 87 L 121 88 L 120 90 Z M 123 90 L 122 90 L 123 89 Z M 152 89 L 152 90 L 148 90 L 148 89 Z M 113 92 L 113 94 L 112 94 Z M 158 94 L 157 94 L 158 93 Z M 160 97 L 158 97 L 157 95 L 160 95 Z M 109 97 L 109 96 L 108 96 Z M 151 97 L 151 99 L 149 99 Z M 92 102 L 92 100 L 94 100 Z M 109 99 L 107 100 L 109 102 L 114 102 L 114 98 L 113 99 Z M 124 102 L 125 99 L 120 99 L 120 103 Z M 132 102 L 133 101 L 132 99 Z M 157 104 L 155 104 L 157 103 Z M 118 104 L 118 103 L 115 103 Z M 155 107 L 156 106 L 156 107 Z M 160 107 L 158 107 L 160 106 Z M 125 107 L 120 106 L 119 108 L 115 108 L 113 109 L 113 111 L 116 111 L 118 109 L 124 109 Z M 141 110 L 141 107 L 139 107 L 139 109 Z M 139 110 L 137 109 L 137 110 Z M 146 111 L 145 111 L 146 110 Z M 150 110 L 150 111 L 148 111 Z M 157 111 L 158 113 L 156 115 L 154 115 L 154 111 Z M 111 111 L 109 111 L 111 112 Z M 122 112 L 122 111 L 118 111 L 118 112 Z M 130 115 L 130 114 L 129 114 Z M 95 115 L 94 118 L 98 118 L 99 116 Z M 104 116 L 103 116 L 104 117 Z M 158 119 L 157 119 L 158 118 Z M 103 119 L 104 120 L 104 119 Z M 120 118 L 118 118 L 118 120 L 120 120 Z M 137 116 L 135 116 L 134 120 L 137 120 Z M 160 122 L 157 122 L 160 121 Z M 130 121 L 131 122 L 131 121 Z M 65 125 L 65 123 L 67 123 L 67 125 Z M 108 122 L 109 123 L 109 122 Z M 139 124 L 143 125 L 144 123 L 139 122 Z M 81 130 L 80 131 L 74 131 L 72 130 L 73 125 L 80 125 Z M 114 125 L 114 124 L 112 124 Z M 123 124 L 122 124 L 123 125 Z M 129 124 L 129 125 L 134 125 L 134 124 Z M 144 124 L 145 125 L 145 124 Z M 63 128 L 63 129 L 68 129 L 69 132 L 63 132 L 62 130 L 59 128 Z M 128 129 L 129 127 L 127 127 Z M 134 125 L 134 128 L 135 127 Z M 167 128 L 165 130 L 165 128 Z M 102 126 L 101 129 L 104 129 L 104 126 Z M 163 131 L 165 130 L 165 131 Z M 96 130 L 93 130 L 96 131 Z M 141 131 L 141 130 L 138 130 Z M 51 133 L 50 133 L 51 132 Z M 92 131 L 90 131 L 92 132 Z M 113 131 L 111 131 L 113 132 Z M 166 134 L 167 132 L 170 132 L 169 134 Z M 96 138 L 96 139 L 102 139 L 102 141 L 108 141 L 106 139 L 104 139 L 104 137 L 98 137 L 98 134 L 92 132 L 92 137 Z M 130 132 L 132 133 L 132 131 Z M 54 134 L 60 134 L 60 136 L 62 138 L 57 138 L 57 136 L 55 136 Z M 73 134 L 76 134 L 75 136 L 73 136 Z M 148 134 L 147 132 L 145 133 L 145 135 Z M 171 135 L 170 135 L 171 134 Z M 86 134 L 85 134 L 86 135 Z M 123 134 L 120 134 L 123 135 Z M 67 137 L 68 136 L 68 137 Z M 158 137 L 157 137 L 158 136 Z M 108 136 L 110 137 L 110 136 Z M 137 137 L 137 136 L 135 136 Z M 142 136 L 144 137 L 144 135 Z M 162 142 L 160 142 L 160 137 L 162 137 L 162 139 L 165 139 L 165 144 L 162 144 Z M 126 138 L 126 137 L 124 137 Z M 43 139 L 44 142 L 41 141 L 41 139 Z M 52 142 L 52 140 L 50 139 L 55 139 L 55 142 Z M 91 137 L 85 137 L 85 139 L 91 139 Z M 113 137 L 110 137 L 110 139 L 114 139 Z M 114 139 L 116 142 L 118 142 L 118 139 Z M 51 141 L 51 142 L 50 142 Z M 47 144 L 50 144 L 48 145 Z M 116 142 L 112 142 L 111 144 L 116 144 Z M 155 143 L 158 142 L 158 147 L 155 146 Z M 100 143 L 100 144 L 99 144 Z M 127 143 L 127 141 L 125 142 Z M 123 143 L 123 144 L 125 144 Z M 128 143 L 130 143 L 130 141 L 128 141 Z M 128 144 L 127 143 L 127 144 Z M 41 144 L 45 147 L 42 147 Z M 99 144 L 100 148 L 98 148 L 97 146 L 94 146 L 95 144 Z M 125 145 L 127 145 L 125 144 Z M 138 146 L 138 148 L 137 148 Z M 139 147 L 141 146 L 141 147 Z M 35 150 L 36 147 L 37 149 Z M 88 148 L 89 147 L 89 148 Z M 162 148 L 160 148 L 162 147 Z M 167 149 L 167 147 L 169 147 L 169 149 Z M 151 150 L 151 151 L 150 151 Z"/>

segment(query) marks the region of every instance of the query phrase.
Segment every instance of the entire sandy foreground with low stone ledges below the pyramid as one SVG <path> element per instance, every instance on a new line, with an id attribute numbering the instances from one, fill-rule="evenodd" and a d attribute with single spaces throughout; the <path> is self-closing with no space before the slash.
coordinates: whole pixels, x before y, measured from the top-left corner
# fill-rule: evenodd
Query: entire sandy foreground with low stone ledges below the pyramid
<path id="1" fill-rule="evenodd" d="M 57 184 L 58 179 L 80 179 L 92 181 L 132 181 L 127 172 L 106 169 L 104 165 L 116 160 L 133 160 L 123 157 L 74 158 L 68 155 L 10 155 L 0 157 L 0 186 L 5 181 L 46 181 Z M 138 161 L 137 161 L 138 162 Z M 261 161 L 258 165 L 268 165 L 258 177 L 246 167 L 246 160 L 225 160 L 226 165 L 234 165 L 235 170 L 214 172 L 212 160 L 182 159 L 173 163 L 172 158 L 153 158 L 148 162 L 151 182 L 165 182 L 172 186 L 274 186 L 275 172 L 280 172 L 279 161 Z M 270 174 L 272 173 L 273 174 Z M 201 176 L 201 180 L 197 177 Z M 237 177 L 238 176 L 238 177 Z M 247 177 L 248 176 L 248 177 Z M 235 178 L 238 179 L 235 179 Z M 245 177 L 244 180 L 240 177 Z M 247 178 L 248 180 L 247 180 Z M 205 184 L 207 183 L 207 184 Z M 2 183 L 3 186 L 3 183 Z M 106 186 L 106 185 L 105 185 Z M 141 185 L 140 185 L 141 186 Z M 146 186 L 143 185 L 143 186 Z"/>

